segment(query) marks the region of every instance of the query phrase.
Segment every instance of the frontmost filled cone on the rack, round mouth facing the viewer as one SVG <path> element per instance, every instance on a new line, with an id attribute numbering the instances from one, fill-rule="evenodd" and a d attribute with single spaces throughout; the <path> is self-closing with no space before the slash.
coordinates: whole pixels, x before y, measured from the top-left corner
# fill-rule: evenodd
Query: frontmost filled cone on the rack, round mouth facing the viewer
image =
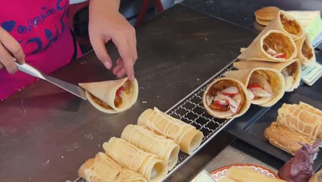
<path id="1" fill-rule="evenodd" d="M 207 86 L 202 103 L 211 116 L 228 119 L 243 115 L 250 107 L 250 97 L 241 81 L 220 78 Z"/>

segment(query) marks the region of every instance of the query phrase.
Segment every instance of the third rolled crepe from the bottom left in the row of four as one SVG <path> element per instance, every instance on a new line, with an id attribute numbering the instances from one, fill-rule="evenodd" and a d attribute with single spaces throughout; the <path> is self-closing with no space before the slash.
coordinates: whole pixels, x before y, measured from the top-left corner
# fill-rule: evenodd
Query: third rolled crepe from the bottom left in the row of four
<path id="1" fill-rule="evenodd" d="M 121 139 L 145 152 L 157 155 L 159 159 L 167 163 L 168 170 L 172 170 L 178 162 L 180 146 L 173 140 L 155 134 L 142 125 L 127 125 L 122 132 Z"/>

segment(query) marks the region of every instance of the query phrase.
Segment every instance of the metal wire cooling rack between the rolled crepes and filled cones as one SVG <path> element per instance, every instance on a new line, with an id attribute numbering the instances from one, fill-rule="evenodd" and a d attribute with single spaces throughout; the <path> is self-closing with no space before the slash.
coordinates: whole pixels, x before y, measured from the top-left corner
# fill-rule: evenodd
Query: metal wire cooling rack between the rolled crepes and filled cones
<path id="1" fill-rule="evenodd" d="M 222 68 L 222 70 L 213 75 L 213 77 L 202 83 L 202 85 L 200 85 L 193 92 L 184 97 L 184 99 L 167 110 L 166 113 L 171 117 L 189 123 L 195 126 L 197 130 L 203 132 L 204 139 L 199 148 L 197 148 L 191 155 L 184 154 L 183 152 L 179 153 L 177 165 L 175 165 L 175 168 L 173 168 L 173 170 L 171 170 L 167 174 L 163 181 L 168 179 L 171 174 L 177 171 L 182 165 L 184 165 L 184 163 L 189 161 L 191 157 L 193 157 L 200 149 L 202 149 L 209 141 L 211 141 L 213 137 L 215 137 L 221 130 L 223 130 L 226 125 L 228 125 L 228 123 L 233 121 L 233 119 L 217 119 L 208 114 L 204 109 L 204 105 L 202 104 L 202 95 L 204 94 L 204 90 L 206 90 L 208 83 L 211 83 L 213 79 L 224 77 L 224 73 L 226 71 L 233 70 L 233 62 L 235 62 L 236 60 L 237 59 L 231 61 L 228 65 L 226 65 L 226 67 Z M 86 181 L 78 178 L 74 182 Z"/>

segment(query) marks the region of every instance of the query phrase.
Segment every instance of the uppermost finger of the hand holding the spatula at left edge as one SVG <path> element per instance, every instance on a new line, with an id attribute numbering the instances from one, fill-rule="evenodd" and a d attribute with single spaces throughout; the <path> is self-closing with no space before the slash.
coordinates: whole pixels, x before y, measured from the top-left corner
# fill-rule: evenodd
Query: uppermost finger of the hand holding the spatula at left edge
<path id="1" fill-rule="evenodd" d="M 3 28 L 0 28 L 0 42 L 17 59 L 18 63 L 25 63 L 25 54 L 23 53 L 21 45 L 6 30 L 3 30 Z"/>

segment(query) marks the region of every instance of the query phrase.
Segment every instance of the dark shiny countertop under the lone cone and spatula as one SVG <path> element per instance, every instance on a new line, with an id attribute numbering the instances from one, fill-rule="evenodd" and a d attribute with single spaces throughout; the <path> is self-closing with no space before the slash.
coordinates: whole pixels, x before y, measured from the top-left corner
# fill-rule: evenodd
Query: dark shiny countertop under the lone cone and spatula
<path id="1" fill-rule="evenodd" d="M 104 114 L 45 81 L 0 103 L 0 181 L 76 179 L 79 166 L 102 151 L 104 141 L 120 136 L 147 108 L 169 109 L 235 59 L 255 34 L 177 5 L 138 28 L 137 37 L 140 94 L 127 112 Z M 116 58 L 116 48 L 108 48 Z M 71 83 L 114 79 L 94 52 L 52 76 Z M 231 141 L 222 132 L 169 181 L 191 178 Z"/>

